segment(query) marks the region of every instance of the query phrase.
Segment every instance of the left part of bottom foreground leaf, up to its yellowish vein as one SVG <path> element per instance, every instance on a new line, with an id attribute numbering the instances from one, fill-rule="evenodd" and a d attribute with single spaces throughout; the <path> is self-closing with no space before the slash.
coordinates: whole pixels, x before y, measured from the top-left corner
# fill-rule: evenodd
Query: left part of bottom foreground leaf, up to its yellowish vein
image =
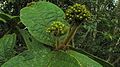
<path id="1" fill-rule="evenodd" d="M 24 52 L 6 62 L 2 67 L 80 67 L 74 58 L 64 52 Z"/>

